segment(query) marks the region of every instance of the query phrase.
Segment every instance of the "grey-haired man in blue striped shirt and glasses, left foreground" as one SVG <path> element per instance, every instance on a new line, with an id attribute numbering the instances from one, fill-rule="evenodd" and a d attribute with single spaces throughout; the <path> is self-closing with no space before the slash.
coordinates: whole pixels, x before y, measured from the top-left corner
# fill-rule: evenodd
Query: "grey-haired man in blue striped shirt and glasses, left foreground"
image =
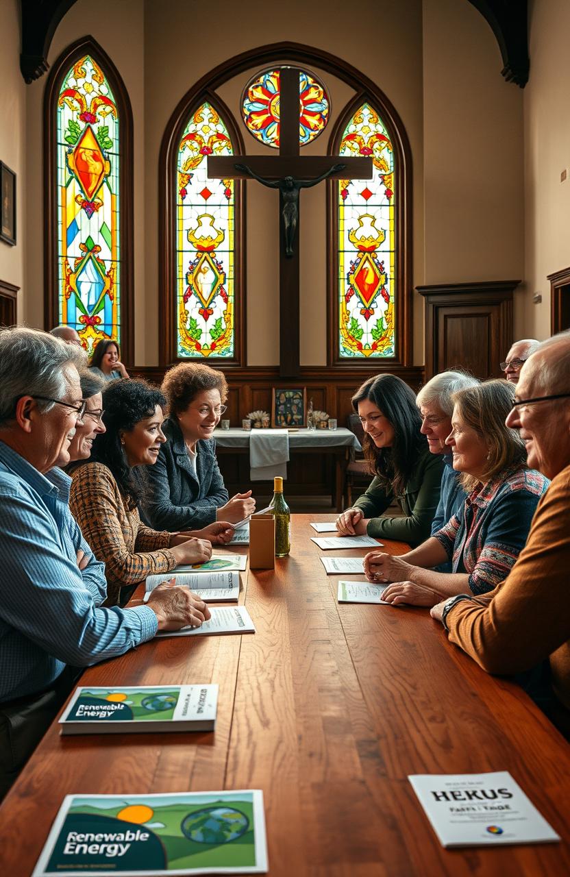
<path id="1" fill-rule="evenodd" d="M 69 513 L 67 476 L 46 478 L 69 461 L 83 359 L 47 333 L 0 330 L 0 798 L 68 695 L 73 668 L 210 617 L 187 588 L 166 584 L 146 606 L 99 608 L 103 564 Z"/>

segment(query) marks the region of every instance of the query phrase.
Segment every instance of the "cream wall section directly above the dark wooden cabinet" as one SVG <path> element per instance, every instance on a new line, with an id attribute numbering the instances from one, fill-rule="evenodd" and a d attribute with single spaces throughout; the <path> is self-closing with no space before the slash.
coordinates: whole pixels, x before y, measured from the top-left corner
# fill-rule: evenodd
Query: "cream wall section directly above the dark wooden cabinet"
<path id="1" fill-rule="evenodd" d="M 424 0 L 426 284 L 524 276 L 523 91 L 501 69 L 474 6 Z"/>

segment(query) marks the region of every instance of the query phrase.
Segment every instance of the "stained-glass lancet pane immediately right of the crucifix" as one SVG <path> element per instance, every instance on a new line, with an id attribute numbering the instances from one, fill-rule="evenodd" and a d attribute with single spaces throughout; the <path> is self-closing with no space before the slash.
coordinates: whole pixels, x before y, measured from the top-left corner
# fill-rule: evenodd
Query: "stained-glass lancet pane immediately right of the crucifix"
<path id="1" fill-rule="evenodd" d="M 340 155 L 370 155 L 372 180 L 338 182 L 338 348 L 341 359 L 395 355 L 394 153 L 378 113 L 363 103 Z"/>

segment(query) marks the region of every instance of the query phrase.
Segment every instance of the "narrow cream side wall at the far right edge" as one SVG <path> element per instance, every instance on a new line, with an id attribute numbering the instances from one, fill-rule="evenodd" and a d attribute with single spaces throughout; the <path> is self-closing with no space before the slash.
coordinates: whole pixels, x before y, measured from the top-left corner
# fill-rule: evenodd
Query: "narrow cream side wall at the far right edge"
<path id="1" fill-rule="evenodd" d="M 525 284 L 519 337 L 550 335 L 546 276 L 570 266 L 570 58 L 566 0 L 534 0 L 530 15 L 531 78 L 524 89 Z M 560 173 L 566 170 L 566 181 Z M 532 303 L 533 293 L 542 303 Z"/>

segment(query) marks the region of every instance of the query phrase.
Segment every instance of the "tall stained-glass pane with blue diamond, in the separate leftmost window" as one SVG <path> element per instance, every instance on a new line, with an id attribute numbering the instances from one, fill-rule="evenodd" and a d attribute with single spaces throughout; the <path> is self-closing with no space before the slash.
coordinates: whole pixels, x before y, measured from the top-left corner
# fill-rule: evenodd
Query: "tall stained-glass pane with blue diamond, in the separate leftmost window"
<path id="1" fill-rule="evenodd" d="M 85 55 L 57 104 L 58 299 L 60 323 L 89 353 L 100 339 L 120 341 L 119 172 L 117 104 Z"/>

